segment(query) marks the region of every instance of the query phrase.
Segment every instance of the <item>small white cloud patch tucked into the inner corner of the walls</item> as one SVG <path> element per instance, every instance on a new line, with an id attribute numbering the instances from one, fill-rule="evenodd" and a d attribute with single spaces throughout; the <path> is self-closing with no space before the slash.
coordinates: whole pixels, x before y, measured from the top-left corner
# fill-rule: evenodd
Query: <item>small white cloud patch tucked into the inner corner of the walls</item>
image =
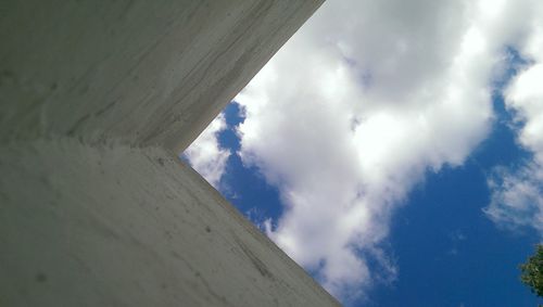
<path id="1" fill-rule="evenodd" d="M 222 149 L 217 140 L 218 133 L 224 129 L 226 129 L 226 120 L 220 114 L 184 152 L 192 168 L 216 189 L 218 189 L 226 162 L 230 156 L 230 151 Z"/>

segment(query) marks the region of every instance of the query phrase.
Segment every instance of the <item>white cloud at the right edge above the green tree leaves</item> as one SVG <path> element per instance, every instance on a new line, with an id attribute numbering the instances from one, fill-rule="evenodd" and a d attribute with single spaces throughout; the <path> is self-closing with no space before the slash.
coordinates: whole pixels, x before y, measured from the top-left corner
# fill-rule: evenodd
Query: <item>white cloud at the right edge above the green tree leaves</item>
<path id="1" fill-rule="evenodd" d="M 543 238 L 543 3 L 530 5 L 515 46 L 530 63 L 505 91 L 505 103 L 521 124 L 519 144 L 533 154 L 518 169 L 498 168 L 489 180 L 485 213 L 505 228 L 532 227 Z"/>

